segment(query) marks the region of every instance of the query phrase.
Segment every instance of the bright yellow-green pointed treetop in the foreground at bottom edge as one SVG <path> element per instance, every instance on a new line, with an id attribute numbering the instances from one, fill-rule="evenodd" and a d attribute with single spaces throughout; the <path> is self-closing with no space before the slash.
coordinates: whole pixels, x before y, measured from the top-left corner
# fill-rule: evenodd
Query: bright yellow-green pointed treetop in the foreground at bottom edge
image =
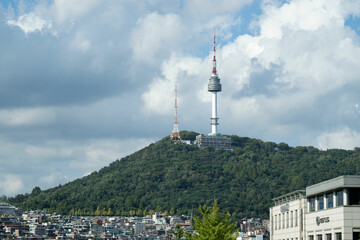
<path id="1" fill-rule="evenodd" d="M 235 240 L 236 225 L 231 222 L 230 213 L 219 213 L 217 201 L 212 207 L 206 205 L 199 208 L 200 217 L 194 218 L 195 233 L 189 240 Z"/>

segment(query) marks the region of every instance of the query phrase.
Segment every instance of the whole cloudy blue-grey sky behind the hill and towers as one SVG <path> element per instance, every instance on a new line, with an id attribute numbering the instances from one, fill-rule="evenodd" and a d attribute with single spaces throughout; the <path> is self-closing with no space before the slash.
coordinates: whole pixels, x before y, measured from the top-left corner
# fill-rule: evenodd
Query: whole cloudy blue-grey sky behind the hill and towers
<path id="1" fill-rule="evenodd" d="M 180 130 L 360 145 L 358 0 L 0 0 L 0 195 L 64 184 Z"/>

